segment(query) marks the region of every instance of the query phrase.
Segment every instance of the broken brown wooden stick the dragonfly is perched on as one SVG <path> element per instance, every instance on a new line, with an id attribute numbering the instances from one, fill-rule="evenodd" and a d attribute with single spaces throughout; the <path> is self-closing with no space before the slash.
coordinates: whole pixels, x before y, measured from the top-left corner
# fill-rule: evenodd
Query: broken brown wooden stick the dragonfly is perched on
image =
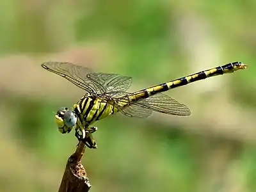
<path id="1" fill-rule="evenodd" d="M 84 150 L 85 145 L 83 142 L 80 142 L 76 152 L 68 158 L 59 192 L 86 192 L 91 188 L 86 171 L 81 163 Z"/>

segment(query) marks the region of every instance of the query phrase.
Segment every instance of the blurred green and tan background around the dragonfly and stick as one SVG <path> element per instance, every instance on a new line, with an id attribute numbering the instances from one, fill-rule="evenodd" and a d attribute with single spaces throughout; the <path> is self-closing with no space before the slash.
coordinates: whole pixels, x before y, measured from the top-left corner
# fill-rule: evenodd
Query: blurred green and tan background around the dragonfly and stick
<path id="1" fill-rule="evenodd" d="M 90 191 L 256 191 L 256 1 L 0 1 L 0 191 L 57 191 L 77 141 L 54 112 L 83 90 L 70 61 L 131 76 L 131 92 L 243 61 L 167 94 L 192 115 L 109 116 L 83 164 Z"/>

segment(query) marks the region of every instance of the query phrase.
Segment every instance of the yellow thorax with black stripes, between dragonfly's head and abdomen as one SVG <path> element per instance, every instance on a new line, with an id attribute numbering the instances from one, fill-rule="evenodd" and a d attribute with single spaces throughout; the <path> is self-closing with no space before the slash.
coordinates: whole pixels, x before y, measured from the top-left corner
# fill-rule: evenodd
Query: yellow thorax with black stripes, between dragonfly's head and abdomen
<path id="1" fill-rule="evenodd" d="M 83 126 L 93 124 L 117 111 L 113 100 L 91 93 L 84 95 L 77 104 L 74 104 L 74 112 Z"/>

